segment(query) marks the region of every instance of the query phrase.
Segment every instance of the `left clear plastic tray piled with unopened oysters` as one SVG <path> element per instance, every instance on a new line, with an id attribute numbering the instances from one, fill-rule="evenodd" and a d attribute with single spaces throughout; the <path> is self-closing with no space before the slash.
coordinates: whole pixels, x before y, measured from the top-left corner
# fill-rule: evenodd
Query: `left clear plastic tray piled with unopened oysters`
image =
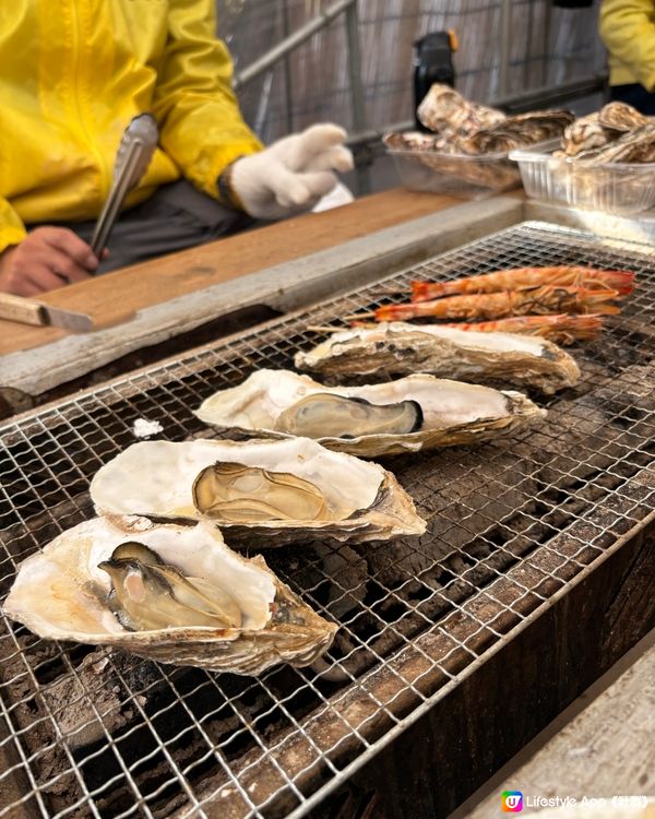
<path id="1" fill-rule="evenodd" d="M 418 106 L 417 117 L 429 132 L 383 138 L 402 183 L 410 190 L 471 199 L 520 185 L 510 151 L 560 136 L 573 121 L 573 115 L 562 110 L 508 116 L 439 83 Z"/>

